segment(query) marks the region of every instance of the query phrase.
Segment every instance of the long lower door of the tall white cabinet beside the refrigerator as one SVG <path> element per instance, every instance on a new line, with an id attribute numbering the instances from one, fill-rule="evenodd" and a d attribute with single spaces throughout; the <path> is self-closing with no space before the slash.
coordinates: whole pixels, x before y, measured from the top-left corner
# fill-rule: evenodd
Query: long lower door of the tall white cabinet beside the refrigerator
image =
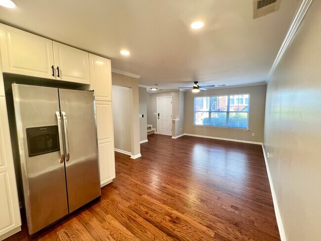
<path id="1" fill-rule="evenodd" d="M 101 186 L 108 184 L 116 177 L 112 107 L 111 101 L 96 101 L 98 160 Z"/>

